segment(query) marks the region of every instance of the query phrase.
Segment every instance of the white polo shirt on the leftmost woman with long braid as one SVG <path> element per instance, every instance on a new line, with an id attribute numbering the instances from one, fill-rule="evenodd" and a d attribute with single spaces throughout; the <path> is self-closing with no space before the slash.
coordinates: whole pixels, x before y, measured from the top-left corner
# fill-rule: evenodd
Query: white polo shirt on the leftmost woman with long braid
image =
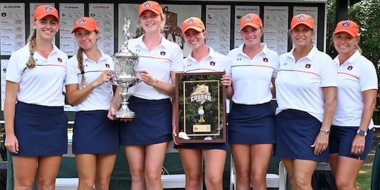
<path id="1" fill-rule="evenodd" d="M 41 106 L 64 106 L 64 79 L 66 74 L 66 53 L 53 44 L 53 51 L 45 59 L 35 52 L 35 68 L 28 68 L 29 44 L 10 56 L 6 80 L 19 83 L 17 100 Z"/>

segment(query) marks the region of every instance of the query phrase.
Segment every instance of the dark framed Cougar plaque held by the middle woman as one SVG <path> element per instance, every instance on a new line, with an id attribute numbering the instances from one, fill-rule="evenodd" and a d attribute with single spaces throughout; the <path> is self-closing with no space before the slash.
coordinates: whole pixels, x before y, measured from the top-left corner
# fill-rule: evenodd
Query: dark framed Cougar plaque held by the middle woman
<path id="1" fill-rule="evenodd" d="M 177 73 L 177 142 L 226 142 L 226 92 L 220 73 Z"/>

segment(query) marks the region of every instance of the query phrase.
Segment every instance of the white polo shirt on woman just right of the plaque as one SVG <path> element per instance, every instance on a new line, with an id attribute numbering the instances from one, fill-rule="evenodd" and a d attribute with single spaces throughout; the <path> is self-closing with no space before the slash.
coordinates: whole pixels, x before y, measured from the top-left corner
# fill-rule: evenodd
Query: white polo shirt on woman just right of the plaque
<path id="1" fill-rule="evenodd" d="M 264 104 L 273 97 L 270 87 L 278 69 L 278 53 L 269 50 L 265 43 L 260 46 L 263 50 L 253 59 L 243 53 L 244 44 L 228 53 L 234 86 L 232 101 L 236 104 Z"/>

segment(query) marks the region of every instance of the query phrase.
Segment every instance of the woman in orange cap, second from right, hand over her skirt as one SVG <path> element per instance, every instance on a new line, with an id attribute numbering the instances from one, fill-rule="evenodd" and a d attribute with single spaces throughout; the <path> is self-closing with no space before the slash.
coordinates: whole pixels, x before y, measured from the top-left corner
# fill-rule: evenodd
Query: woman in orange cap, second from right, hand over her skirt
<path id="1" fill-rule="evenodd" d="M 276 77 L 276 146 L 292 189 L 312 189 L 318 162 L 328 160 L 328 142 L 336 107 L 336 68 L 329 55 L 312 44 L 310 15 L 292 18 L 294 48 L 281 55 Z"/>

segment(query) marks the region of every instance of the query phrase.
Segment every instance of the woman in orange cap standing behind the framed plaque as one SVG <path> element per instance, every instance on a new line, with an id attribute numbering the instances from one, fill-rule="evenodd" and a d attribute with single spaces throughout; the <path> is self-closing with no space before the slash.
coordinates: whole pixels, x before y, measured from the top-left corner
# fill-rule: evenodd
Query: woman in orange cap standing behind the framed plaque
<path id="1" fill-rule="evenodd" d="M 184 59 L 184 73 L 225 72 L 221 82 L 226 88 L 231 87 L 231 63 L 225 55 L 216 53 L 206 46 L 207 31 L 205 24 L 197 17 L 190 17 L 182 23 L 182 34 L 187 46 L 191 48 L 189 56 Z M 213 64 L 211 64 L 213 63 Z M 175 142 L 175 127 L 173 139 Z M 184 174 L 185 189 L 201 189 L 203 181 L 202 160 L 205 160 L 205 184 L 207 189 L 223 189 L 223 171 L 228 144 L 225 143 L 187 143 L 176 144 L 180 152 Z"/>

